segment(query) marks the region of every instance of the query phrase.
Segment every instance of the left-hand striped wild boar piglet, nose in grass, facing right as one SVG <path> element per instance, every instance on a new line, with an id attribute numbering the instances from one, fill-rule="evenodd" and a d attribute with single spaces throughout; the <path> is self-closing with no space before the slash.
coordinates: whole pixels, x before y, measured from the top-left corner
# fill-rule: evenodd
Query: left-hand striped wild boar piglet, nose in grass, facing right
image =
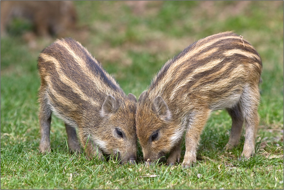
<path id="1" fill-rule="evenodd" d="M 115 79 L 80 43 L 66 38 L 45 48 L 38 59 L 41 126 L 40 151 L 50 151 L 51 112 L 65 122 L 68 145 L 89 158 L 118 155 L 135 161 L 136 98 L 125 95 Z"/>

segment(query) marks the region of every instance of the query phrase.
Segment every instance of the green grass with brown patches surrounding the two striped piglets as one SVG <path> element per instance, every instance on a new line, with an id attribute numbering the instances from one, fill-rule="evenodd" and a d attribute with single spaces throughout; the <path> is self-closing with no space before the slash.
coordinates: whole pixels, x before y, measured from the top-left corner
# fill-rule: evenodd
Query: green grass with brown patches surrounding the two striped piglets
<path id="1" fill-rule="evenodd" d="M 70 36 L 137 97 L 168 59 L 194 41 L 231 30 L 248 39 L 263 61 L 256 155 L 238 160 L 243 136 L 238 147 L 223 150 L 231 126 L 225 111 L 213 112 L 189 169 L 146 167 L 140 147 L 136 165 L 72 155 L 64 124 L 55 117 L 53 152 L 39 154 L 37 56 L 55 37 L 36 38 L 31 46 L 17 31 L 26 23 L 17 29 L 17 21 L 1 37 L 1 189 L 283 189 L 283 1 L 74 3 L 80 29 Z"/>

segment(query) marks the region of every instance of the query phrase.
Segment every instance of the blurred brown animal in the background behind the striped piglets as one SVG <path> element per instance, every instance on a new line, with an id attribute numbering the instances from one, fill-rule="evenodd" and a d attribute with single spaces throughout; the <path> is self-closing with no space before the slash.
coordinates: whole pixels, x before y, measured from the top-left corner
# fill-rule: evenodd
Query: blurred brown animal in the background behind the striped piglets
<path id="1" fill-rule="evenodd" d="M 75 28 L 77 15 L 71 1 L 1 1 L 1 36 L 13 18 L 32 22 L 36 35 L 63 37 Z"/>

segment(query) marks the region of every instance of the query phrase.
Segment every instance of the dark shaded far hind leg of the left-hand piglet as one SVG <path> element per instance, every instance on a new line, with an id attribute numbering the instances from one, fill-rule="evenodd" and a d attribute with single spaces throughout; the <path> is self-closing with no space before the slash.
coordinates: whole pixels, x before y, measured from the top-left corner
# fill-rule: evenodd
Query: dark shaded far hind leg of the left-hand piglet
<path id="1" fill-rule="evenodd" d="M 71 149 L 70 151 L 73 151 L 74 153 L 77 154 L 81 153 L 81 147 L 77 139 L 76 129 L 66 123 L 65 123 L 65 129 L 68 136 L 68 146 Z"/>

